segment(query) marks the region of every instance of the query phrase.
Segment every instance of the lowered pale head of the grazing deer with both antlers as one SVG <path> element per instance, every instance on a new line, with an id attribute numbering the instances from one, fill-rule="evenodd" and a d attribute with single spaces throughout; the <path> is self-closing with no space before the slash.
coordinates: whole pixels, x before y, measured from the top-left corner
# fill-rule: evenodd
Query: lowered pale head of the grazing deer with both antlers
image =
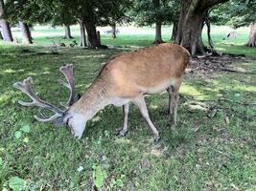
<path id="1" fill-rule="evenodd" d="M 37 106 L 47 110 L 50 110 L 54 113 L 53 116 L 46 116 L 43 113 L 40 113 L 41 117 L 35 116 L 35 119 L 40 122 L 48 122 L 56 120 L 55 125 L 59 126 L 62 123 L 67 123 L 71 129 L 71 133 L 75 138 L 81 138 L 82 133 L 85 128 L 86 118 L 80 114 L 70 110 L 70 107 L 76 102 L 79 98 L 76 94 L 74 75 L 73 75 L 73 66 L 66 65 L 59 68 L 59 71 L 65 75 L 66 82 L 58 79 L 58 82 L 67 87 L 70 90 L 70 96 L 66 104 L 61 103 L 64 109 L 59 109 L 58 107 L 48 103 L 38 96 L 35 95 L 31 88 L 31 77 L 28 77 L 23 82 L 16 82 L 13 86 L 19 89 L 21 92 L 25 93 L 27 96 L 30 96 L 32 102 L 23 102 L 18 101 L 19 104 L 23 106 Z"/>

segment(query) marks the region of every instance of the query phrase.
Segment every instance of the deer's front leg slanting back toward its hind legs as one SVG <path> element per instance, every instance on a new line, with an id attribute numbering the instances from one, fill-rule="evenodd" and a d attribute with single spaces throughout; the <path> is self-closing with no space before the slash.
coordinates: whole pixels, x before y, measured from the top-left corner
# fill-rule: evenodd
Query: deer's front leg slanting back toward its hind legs
<path id="1" fill-rule="evenodd" d="M 137 96 L 136 98 L 134 98 L 132 100 L 132 102 L 139 108 L 141 115 L 146 119 L 146 121 L 150 125 L 152 133 L 153 133 L 153 141 L 157 142 L 160 138 L 159 133 L 151 122 L 151 118 L 149 116 L 149 112 L 148 112 L 148 109 L 146 106 L 144 96 Z"/>

